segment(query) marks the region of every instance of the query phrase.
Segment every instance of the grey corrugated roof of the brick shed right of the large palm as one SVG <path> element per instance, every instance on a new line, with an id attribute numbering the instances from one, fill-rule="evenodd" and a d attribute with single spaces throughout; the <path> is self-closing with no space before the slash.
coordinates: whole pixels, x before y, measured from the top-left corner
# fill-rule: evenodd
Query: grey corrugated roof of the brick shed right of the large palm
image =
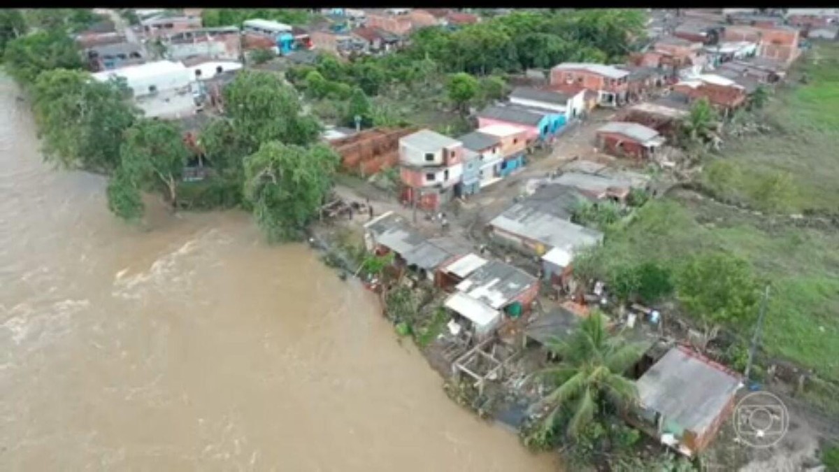
<path id="1" fill-rule="evenodd" d="M 664 354 L 640 379 L 638 398 L 694 433 L 704 433 L 741 386 L 737 375 L 700 354 L 677 347 Z"/>

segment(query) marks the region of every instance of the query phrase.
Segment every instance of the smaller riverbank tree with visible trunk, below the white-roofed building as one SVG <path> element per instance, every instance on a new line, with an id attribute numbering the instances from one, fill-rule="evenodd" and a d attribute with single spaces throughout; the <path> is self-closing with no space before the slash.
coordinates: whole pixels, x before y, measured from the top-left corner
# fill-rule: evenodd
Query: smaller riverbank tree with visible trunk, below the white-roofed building
<path id="1" fill-rule="evenodd" d="M 190 151 L 173 123 L 140 119 L 125 135 L 120 148 L 120 173 L 142 191 L 162 191 L 176 207 L 178 186 Z"/>

